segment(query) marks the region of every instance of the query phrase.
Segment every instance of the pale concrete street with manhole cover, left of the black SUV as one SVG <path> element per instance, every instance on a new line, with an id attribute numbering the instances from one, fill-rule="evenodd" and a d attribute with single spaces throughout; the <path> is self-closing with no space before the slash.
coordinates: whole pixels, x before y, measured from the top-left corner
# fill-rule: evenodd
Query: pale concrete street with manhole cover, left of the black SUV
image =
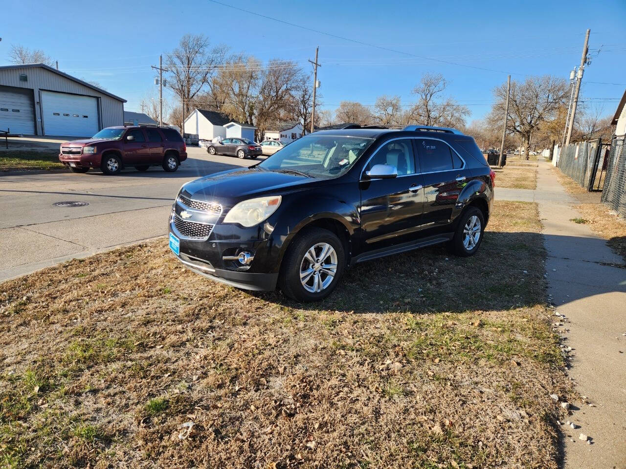
<path id="1" fill-rule="evenodd" d="M 187 151 L 187 161 L 175 173 L 132 168 L 120 176 L 99 171 L 0 176 L 0 281 L 165 235 L 182 184 L 257 161 L 210 156 L 204 148 Z M 53 205 L 64 201 L 88 205 Z"/>

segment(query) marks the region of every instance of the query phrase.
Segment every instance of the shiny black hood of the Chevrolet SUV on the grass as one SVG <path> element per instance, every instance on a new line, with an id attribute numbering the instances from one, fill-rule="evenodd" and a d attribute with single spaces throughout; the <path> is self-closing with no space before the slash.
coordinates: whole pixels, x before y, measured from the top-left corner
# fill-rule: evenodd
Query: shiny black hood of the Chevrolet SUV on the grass
<path id="1" fill-rule="evenodd" d="M 230 199 L 240 201 L 275 194 L 280 189 L 289 191 L 302 186 L 319 185 L 324 179 L 307 178 L 296 174 L 277 173 L 260 168 L 230 169 L 211 174 L 185 184 L 182 192 L 198 200 Z"/>

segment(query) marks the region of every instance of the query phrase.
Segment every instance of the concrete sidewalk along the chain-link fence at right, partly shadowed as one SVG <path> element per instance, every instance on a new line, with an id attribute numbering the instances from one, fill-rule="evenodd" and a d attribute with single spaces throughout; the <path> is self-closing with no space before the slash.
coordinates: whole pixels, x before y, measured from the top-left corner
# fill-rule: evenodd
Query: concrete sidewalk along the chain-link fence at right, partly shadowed
<path id="1" fill-rule="evenodd" d="M 539 162 L 537 189 L 498 189 L 496 198 L 535 201 L 548 258 L 548 295 L 565 323 L 572 347 L 570 376 L 588 401 L 572 403 L 562 426 L 565 468 L 626 468 L 626 268 L 585 224 L 570 221 L 577 203 L 548 163 Z M 580 427 L 580 428 L 579 428 Z M 579 440 L 588 435 L 591 445 Z"/>

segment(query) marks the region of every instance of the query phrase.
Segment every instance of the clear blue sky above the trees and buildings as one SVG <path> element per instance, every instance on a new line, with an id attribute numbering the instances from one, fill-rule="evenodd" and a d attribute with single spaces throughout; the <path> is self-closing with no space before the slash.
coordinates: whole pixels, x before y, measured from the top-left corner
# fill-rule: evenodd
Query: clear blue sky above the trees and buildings
<path id="1" fill-rule="evenodd" d="M 11 44 L 43 49 L 58 59 L 62 71 L 98 81 L 128 100 L 126 110 L 137 111 L 141 98 L 156 88 L 150 65 L 158 64 L 159 54 L 175 48 L 183 34 L 205 34 L 213 44 L 226 44 L 233 52 L 254 54 L 262 61 L 292 59 L 307 70 L 307 59 L 319 46 L 325 108 L 334 109 L 342 100 L 374 104 L 380 94 L 397 94 L 409 104 L 421 74 L 434 72 L 448 79 L 446 93 L 468 106 L 471 120 L 488 113 L 491 90 L 506 81 L 507 73 L 512 79 L 526 74 L 567 78 L 580 63 L 585 30 L 591 28 L 592 64 L 585 70 L 582 98 L 591 99 L 590 105 L 602 108 L 602 114 L 612 114 L 626 89 L 624 0 L 222 1 L 422 58 L 287 26 L 207 0 L 21 1 L 3 7 L 0 64 L 8 63 Z"/>

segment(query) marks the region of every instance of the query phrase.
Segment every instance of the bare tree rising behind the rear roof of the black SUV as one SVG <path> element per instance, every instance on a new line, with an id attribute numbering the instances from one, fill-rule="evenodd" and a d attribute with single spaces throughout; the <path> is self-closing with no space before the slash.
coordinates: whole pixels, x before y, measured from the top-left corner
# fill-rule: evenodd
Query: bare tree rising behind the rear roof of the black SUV
<path id="1" fill-rule="evenodd" d="M 471 114 L 466 106 L 453 98 L 443 98 L 448 81 L 441 74 L 425 73 L 413 89 L 418 102 L 409 109 L 406 119 L 427 126 L 464 128 Z"/>

